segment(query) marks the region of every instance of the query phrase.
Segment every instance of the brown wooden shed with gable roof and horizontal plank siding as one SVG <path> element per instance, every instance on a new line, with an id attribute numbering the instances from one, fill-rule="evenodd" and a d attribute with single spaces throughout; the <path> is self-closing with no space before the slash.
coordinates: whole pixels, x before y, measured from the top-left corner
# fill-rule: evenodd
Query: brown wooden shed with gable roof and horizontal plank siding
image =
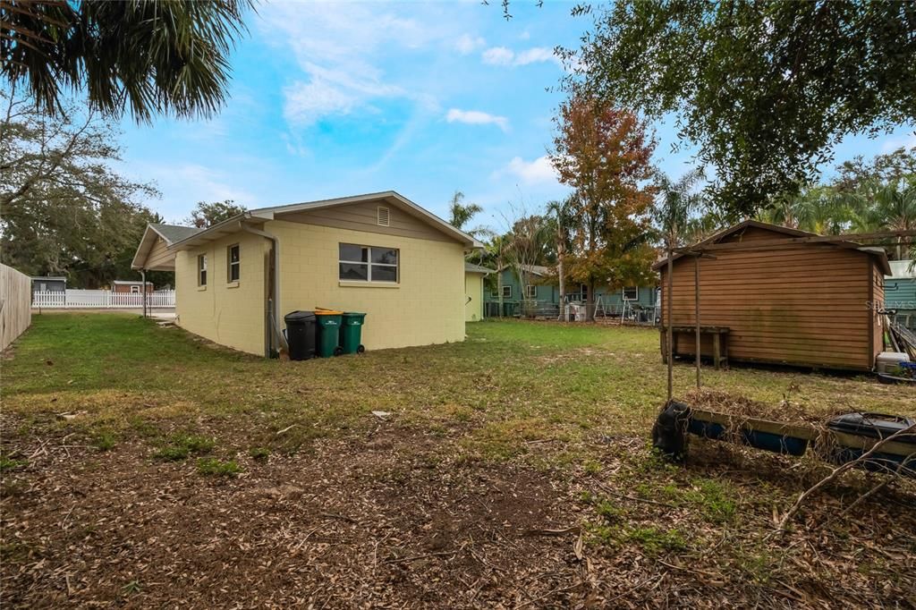
<path id="1" fill-rule="evenodd" d="M 733 245 L 734 244 L 734 245 Z M 746 221 L 696 246 L 701 353 L 725 332 L 731 361 L 871 370 L 883 349 L 878 307 L 888 256 L 869 247 L 768 223 Z M 697 256 L 672 256 L 675 330 L 696 324 Z M 667 259 L 660 271 L 662 327 L 667 326 Z M 665 333 L 661 333 L 664 354 Z M 675 333 L 676 355 L 695 354 L 695 335 Z"/>

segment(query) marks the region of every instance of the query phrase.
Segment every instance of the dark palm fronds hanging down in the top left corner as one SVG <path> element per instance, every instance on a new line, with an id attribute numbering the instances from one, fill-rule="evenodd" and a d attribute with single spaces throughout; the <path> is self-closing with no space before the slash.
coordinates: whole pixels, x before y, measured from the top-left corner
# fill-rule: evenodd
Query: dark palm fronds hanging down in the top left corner
<path id="1" fill-rule="evenodd" d="M 229 54 L 254 0 L 4 0 L 0 78 L 38 108 L 60 111 L 65 90 L 138 122 L 153 114 L 211 116 L 224 104 Z"/>

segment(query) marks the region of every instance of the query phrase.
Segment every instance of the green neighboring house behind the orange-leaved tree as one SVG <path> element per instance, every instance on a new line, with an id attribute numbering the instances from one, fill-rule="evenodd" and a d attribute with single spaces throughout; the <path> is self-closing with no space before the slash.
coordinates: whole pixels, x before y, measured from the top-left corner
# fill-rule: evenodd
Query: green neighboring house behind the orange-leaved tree
<path id="1" fill-rule="evenodd" d="M 522 286 L 514 267 L 503 267 L 499 271 L 501 282 L 492 279 L 485 288 L 485 317 L 499 315 L 499 287 L 503 295 L 503 316 L 534 315 L 557 317 L 560 315 L 560 286 L 551 267 L 531 265 L 526 267 L 530 282 Z M 656 286 L 632 286 L 625 289 L 608 290 L 598 288 L 595 297 L 601 301 L 598 315 L 619 316 L 627 306 L 627 317 L 639 321 L 655 321 L 655 309 L 658 303 Z M 567 302 L 585 302 L 588 299 L 588 287 L 580 284 L 566 286 Z"/>

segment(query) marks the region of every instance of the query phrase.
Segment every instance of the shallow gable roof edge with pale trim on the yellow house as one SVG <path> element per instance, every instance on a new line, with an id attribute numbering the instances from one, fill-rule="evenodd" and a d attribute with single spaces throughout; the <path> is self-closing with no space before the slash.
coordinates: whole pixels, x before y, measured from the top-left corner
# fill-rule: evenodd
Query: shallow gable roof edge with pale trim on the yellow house
<path id="1" fill-rule="evenodd" d="M 233 216 L 232 218 L 229 218 L 222 223 L 216 223 L 213 226 L 207 227 L 198 233 L 190 234 L 187 237 L 180 239 L 178 242 L 173 244 L 173 246 L 176 249 L 184 249 L 194 247 L 207 241 L 213 241 L 213 239 L 222 237 L 224 234 L 234 233 L 235 231 L 240 230 L 240 223 L 245 221 L 270 221 L 281 218 L 284 214 L 293 212 L 309 212 L 311 210 L 322 210 L 326 208 L 333 208 L 341 205 L 351 205 L 353 203 L 361 202 L 386 202 L 398 207 L 398 209 L 404 212 L 409 213 L 409 215 L 417 218 L 421 222 L 431 225 L 432 227 L 441 231 L 443 234 L 452 237 L 455 241 L 460 242 L 467 247 L 481 248 L 484 246 L 471 235 L 464 233 L 449 223 L 446 223 L 439 216 L 436 216 L 432 212 L 421 208 L 416 203 L 411 202 L 409 199 L 395 191 L 382 191 L 367 193 L 364 195 L 354 195 L 351 197 L 324 199 L 315 202 L 290 203 L 289 205 L 277 205 L 269 208 L 257 208 L 256 210 L 249 210 L 247 212 Z M 169 247 L 171 246 L 172 245 Z"/>

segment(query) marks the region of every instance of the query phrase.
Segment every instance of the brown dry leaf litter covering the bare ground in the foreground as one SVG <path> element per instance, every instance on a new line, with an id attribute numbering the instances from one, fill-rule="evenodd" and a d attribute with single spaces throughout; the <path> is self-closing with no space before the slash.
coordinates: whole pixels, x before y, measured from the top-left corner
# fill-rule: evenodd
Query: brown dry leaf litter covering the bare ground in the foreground
<path id="1" fill-rule="evenodd" d="M 434 451 L 442 439 L 394 426 L 266 463 L 243 456 L 235 478 L 155 461 L 142 441 L 112 452 L 68 442 L 14 440 L 30 459 L 4 474 L 6 607 L 855 607 L 876 593 L 907 607 L 914 585 L 856 572 L 875 539 L 861 556 L 816 534 L 790 539 L 805 553 L 813 545 L 793 583 L 721 572 L 718 545 L 691 561 L 589 543 L 580 526 L 595 515 L 578 499 L 588 477 L 454 462 Z M 612 473 L 644 447 L 603 442 Z M 608 476 L 599 478 L 611 485 Z M 682 522 L 651 503 L 634 505 L 638 518 Z M 845 583 L 831 591 L 812 580 L 815 559 L 839 566 Z M 916 567 L 911 556 L 897 561 L 904 574 Z"/>

